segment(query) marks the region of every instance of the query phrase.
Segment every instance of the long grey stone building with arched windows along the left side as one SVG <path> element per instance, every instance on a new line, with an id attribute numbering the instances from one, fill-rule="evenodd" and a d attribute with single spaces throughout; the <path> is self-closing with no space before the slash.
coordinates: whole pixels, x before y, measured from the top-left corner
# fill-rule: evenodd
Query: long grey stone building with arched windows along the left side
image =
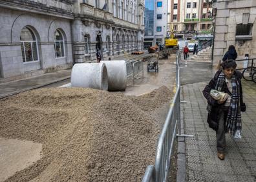
<path id="1" fill-rule="evenodd" d="M 18 79 L 141 50 L 142 0 L 1 0 L 0 77 Z"/>

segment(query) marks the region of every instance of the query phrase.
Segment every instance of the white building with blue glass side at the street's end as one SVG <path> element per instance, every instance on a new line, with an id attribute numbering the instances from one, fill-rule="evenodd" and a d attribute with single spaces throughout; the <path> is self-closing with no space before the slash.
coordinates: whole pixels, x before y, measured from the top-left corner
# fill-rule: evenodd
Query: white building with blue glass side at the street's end
<path id="1" fill-rule="evenodd" d="M 167 0 L 145 0 L 144 48 L 164 44 L 167 36 Z"/>

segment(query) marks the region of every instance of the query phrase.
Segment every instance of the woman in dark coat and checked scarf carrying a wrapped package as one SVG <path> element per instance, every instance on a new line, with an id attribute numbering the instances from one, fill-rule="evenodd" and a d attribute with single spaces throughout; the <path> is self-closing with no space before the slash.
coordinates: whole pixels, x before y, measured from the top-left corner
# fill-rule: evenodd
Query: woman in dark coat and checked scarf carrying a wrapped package
<path id="1" fill-rule="evenodd" d="M 222 70 L 218 70 L 213 79 L 202 91 L 208 101 L 208 119 L 210 128 L 216 131 L 217 156 L 225 159 L 226 137 L 229 133 L 240 138 L 242 121 L 240 112 L 245 112 L 246 105 L 242 99 L 241 76 L 235 72 L 237 63 L 233 60 L 224 61 Z M 213 91 L 222 92 L 224 97 L 217 99 Z M 215 92 L 216 93 L 216 92 Z"/>

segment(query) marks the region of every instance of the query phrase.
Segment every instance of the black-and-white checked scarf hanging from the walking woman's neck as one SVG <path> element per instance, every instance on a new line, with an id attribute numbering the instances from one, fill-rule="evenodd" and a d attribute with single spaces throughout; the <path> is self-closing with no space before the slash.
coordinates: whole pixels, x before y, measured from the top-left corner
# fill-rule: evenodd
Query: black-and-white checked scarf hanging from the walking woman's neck
<path id="1" fill-rule="evenodd" d="M 219 77 L 217 79 L 217 83 L 215 85 L 215 90 L 220 91 L 223 84 L 226 82 L 224 72 L 220 72 Z M 240 86 L 237 77 L 233 74 L 231 77 L 231 85 L 232 85 L 232 95 L 230 106 L 228 109 L 228 116 L 226 119 L 225 124 L 225 131 L 226 133 L 230 133 L 235 135 L 237 130 L 242 130 L 242 120 L 241 120 L 241 113 L 240 113 Z M 211 112 L 211 105 L 207 107 L 208 112 Z"/>

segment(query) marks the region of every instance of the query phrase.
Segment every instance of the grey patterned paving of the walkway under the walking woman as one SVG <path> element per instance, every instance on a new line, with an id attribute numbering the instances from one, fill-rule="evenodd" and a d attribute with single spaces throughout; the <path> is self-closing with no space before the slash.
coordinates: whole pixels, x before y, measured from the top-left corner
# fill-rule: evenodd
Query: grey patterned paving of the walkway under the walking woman
<path id="1" fill-rule="evenodd" d="M 191 77 L 197 80 L 198 75 L 195 76 L 192 70 L 201 66 L 187 67 L 182 70 L 182 75 L 190 69 Z M 202 74 L 201 77 L 205 76 Z M 207 101 L 202 95 L 209 79 L 192 84 L 187 82 L 183 81 L 186 85 L 181 90 L 181 100 L 187 101 L 182 104 L 182 120 L 184 133 L 194 137 L 185 139 L 186 181 L 256 181 L 256 84 L 242 81 L 246 103 L 246 112 L 242 113 L 242 139 L 235 140 L 226 134 L 226 158 L 220 161 L 215 131 L 207 123 Z"/>

